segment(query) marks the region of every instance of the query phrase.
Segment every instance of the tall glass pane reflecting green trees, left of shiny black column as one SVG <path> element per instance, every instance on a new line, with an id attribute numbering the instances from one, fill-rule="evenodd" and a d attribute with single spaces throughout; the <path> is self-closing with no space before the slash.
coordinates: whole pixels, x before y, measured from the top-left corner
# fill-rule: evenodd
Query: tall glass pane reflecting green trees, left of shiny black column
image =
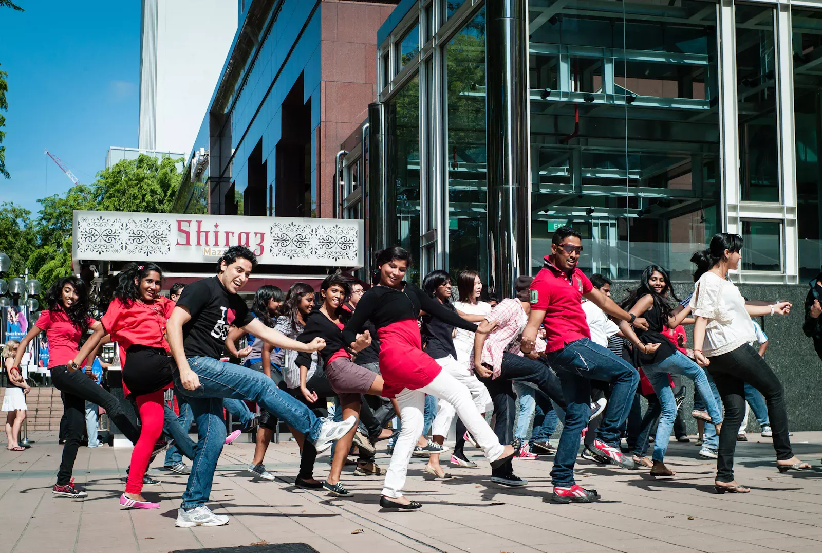
<path id="1" fill-rule="evenodd" d="M 446 46 L 445 70 L 448 270 L 478 270 L 487 281 L 484 7 Z"/>

